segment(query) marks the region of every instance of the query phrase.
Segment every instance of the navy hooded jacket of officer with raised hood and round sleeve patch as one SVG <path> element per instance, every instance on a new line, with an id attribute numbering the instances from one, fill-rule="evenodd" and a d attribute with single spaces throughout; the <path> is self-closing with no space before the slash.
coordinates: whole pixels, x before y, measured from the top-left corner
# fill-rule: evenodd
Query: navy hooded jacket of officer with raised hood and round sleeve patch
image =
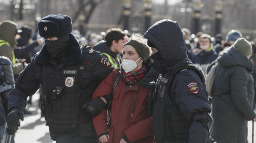
<path id="1" fill-rule="evenodd" d="M 151 55 L 151 57 L 154 59 L 153 67 L 161 73 L 160 76 L 168 77 L 166 74 L 172 74 L 172 70 L 178 65 L 191 62 L 187 57 L 186 43 L 177 22 L 169 19 L 161 20 L 151 26 L 144 34 L 144 37 L 158 50 L 158 52 Z M 183 134 L 188 134 L 189 136 L 188 138 L 184 138 L 182 142 L 206 143 L 209 130 L 209 127 L 207 127 L 206 124 L 212 122 L 212 119 L 208 114 L 211 112 L 211 105 L 208 101 L 208 93 L 205 88 L 205 83 L 202 82 L 199 75 L 193 69 L 180 70 L 180 72 L 175 75 L 172 82 L 170 82 L 169 79 L 162 77 L 158 78 L 158 87 L 160 86 L 160 81 L 162 81 L 165 82 L 163 84 L 166 84 L 166 86 L 169 85 L 169 87 L 165 88 L 170 90 L 161 90 L 160 86 L 154 103 L 153 132 L 155 131 L 154 133 L 157 142 L 161 142 L 165 139 L 169 140 L 172 135 L 177 135 L 175 132 L 180 131 L 179 128 L 176 128 L 176 131 L 172 127 L 166 125 L 167 123 L 171 125 L 173 124 L 173 126 L 177 124 L 177 122 L 170 119 L 169 115 L 165 114 L 170 112 L 170 108 L 176 108 L 177 112 L 180 113 L 181 116 L 184 116 L 183 119 L 185 118 L 189 125 L 188 130 L 182 130 Z M 189 88 L 189 85 L 192 83 L 195 85 L 193 87 L 198 89 L 197 92 L 193 92 L 192 88 Z M 161 113 L 161 110 L 157 110 L 157 108 L 162 108 L 159 107 L 162 105 L 159 101 L 166 96 L 169 96 L 171 101 L 167 106 L 168 109 L 166 108 L 166 111 Z M 161 124 L 163 124 L 163 121 L 159 121 L 157 113 L 160 113 L 161 116 L 163 114 L 163 116 L 166 117 L 162 119 L 165 120 L 165 128 L 167 128 L 171 135 L 165 130 L 158 129 L 158 123 L 161 122 Z M 178 117 L 175 117 L 174 115 L 174 118 L 177 119 Z M 154 128 L 156 130 L 154 130 Z M 181 142 L 181 140 L 175 138 L 171 138 L 171 140 L 175 143 L 176 141 L 177 143 Z"/>

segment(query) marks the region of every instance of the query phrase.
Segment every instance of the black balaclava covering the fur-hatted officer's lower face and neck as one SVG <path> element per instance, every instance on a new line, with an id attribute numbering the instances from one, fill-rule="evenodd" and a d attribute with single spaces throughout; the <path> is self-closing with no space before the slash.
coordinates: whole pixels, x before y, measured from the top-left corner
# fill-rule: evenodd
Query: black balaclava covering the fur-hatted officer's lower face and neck
<path id="1" fill-rule="evenodd" d="M 69 35 L 59 36 L 57 40 L 45 40 L 45 45 L 50 56 L 54 59 L 61 59 L 68 47 Z"/>

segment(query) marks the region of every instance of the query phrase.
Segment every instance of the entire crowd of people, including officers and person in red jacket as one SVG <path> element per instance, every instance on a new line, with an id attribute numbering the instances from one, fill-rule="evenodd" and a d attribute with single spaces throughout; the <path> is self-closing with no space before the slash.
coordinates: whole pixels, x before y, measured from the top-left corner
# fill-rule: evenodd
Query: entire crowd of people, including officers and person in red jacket
<path id="1" fill-rule="evenodd" d="M 240 31 L 194 35 L 164 19 L 143 35 L 110 28 L 84 38 L 66 15 L 42 18 L 35 34 L 17 26 L 0 23 L 0 135 L 11 143 L 39 88 L 56 143 L 247 143 L 256 46 Z"/>

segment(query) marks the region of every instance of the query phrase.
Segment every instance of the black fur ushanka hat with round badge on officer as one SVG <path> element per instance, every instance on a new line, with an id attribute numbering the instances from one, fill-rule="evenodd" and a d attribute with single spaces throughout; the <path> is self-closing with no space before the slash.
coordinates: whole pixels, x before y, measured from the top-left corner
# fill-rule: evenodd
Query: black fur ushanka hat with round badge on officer
<path id="1" fill-rule="evenodd" d="M 48 15 L 38 22 L 39 35 L 44 38 L 68 35 L 72 31 L 71 18 L 67 15 Z"/>

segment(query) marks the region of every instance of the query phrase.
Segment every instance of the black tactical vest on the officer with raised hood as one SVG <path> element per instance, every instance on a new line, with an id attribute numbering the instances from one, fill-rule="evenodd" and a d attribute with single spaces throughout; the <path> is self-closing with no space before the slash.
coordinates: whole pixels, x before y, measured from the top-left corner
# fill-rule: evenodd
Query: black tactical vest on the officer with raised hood
<path id="1" fill-rule="evenodd" d="M 193 64 L 178 65 L 169 73 L 159 75 L 153 107 L 153 132 L 158 142 L 187 141 L 189 139 L 189 128 L 192 121 L 188 121 L 175 101 L 171 100 L 170 91 L 173 78 L 182 69 L 195 70 L 205 83 L 202 71 Z"/>

